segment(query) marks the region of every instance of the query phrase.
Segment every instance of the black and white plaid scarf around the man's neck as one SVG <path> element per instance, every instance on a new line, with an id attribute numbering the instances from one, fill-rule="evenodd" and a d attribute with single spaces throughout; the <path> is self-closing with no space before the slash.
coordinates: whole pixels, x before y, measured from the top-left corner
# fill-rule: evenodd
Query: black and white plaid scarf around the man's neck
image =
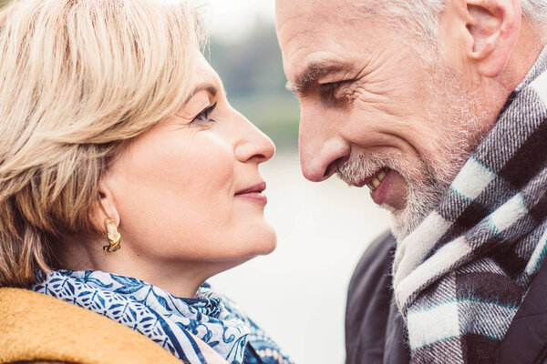
<path id="1" fill-rule="evenodd" d="M 547 252 L 547 50 L 396 251 L 412 363 L 490 363 Z"/>

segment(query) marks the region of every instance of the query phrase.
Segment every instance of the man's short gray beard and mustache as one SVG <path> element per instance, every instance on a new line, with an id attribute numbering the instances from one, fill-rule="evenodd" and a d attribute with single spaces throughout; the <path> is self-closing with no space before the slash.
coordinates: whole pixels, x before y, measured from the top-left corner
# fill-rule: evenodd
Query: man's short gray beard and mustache
<path id="1" fill-rule="evenodd" d="M 469 159 L 486 130 L 480 127 L 479 97 L 460 85 L 459 75 L 437 68 L 426 87 L 428 105 L 438 106 L 442 114 L 429 111 L 429 123 L 439 132 L 431 136 L 436 146 L 433 156 L 408 157 L 363 153 L 352 156 L 338 167 L 338 176 L 356 185 L 380 168 L 397 171 L 408 187 L 406 206 L 396 209 L 382 205 L 392 214 L 392 233 L 401 241 L 439 206 L 440 200 Z M 441 107 L 439 107 L 441 106 Z"/>

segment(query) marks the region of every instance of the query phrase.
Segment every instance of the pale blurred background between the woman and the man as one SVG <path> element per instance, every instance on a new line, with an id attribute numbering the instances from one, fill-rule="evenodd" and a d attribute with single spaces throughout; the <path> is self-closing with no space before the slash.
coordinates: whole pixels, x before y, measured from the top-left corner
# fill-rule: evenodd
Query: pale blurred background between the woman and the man
<path id="1" fill-rule="evenodd" d="M 206 1 L 212 35 L 206 56 L 232 106 L 277 146 L 261 172 L 268 184 L 266 217 L 277 230 L 278 248 L 211 283 L 295 363 L 343 363 L 347 284 L 367 244 L 388 227 L 388 214 L 374 206 L 367 188 L 347 187 L 335 177 L 321 184 L 302 177 L 299 105 L 284 88 L 274 0 Z M 7 2 L 0 0 L 0 6 Z"/>

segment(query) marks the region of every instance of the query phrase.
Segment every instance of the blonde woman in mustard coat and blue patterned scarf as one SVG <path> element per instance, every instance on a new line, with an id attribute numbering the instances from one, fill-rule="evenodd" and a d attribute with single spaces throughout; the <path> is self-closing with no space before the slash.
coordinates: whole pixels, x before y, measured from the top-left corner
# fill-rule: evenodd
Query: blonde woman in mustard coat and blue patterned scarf
<path id="1" fill-rule="evenodd" d="M 228 104 L 191 6 L 0 18 L 0 361 L 289 362 L 203 284 L 274 249 L 274 145 Z"/>

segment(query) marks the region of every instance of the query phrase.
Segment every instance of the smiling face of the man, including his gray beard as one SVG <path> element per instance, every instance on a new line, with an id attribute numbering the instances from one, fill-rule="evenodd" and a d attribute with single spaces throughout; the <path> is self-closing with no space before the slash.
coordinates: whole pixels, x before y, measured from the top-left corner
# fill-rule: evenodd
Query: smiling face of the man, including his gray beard
<path id="1" fill-rule="evenodd" d="M 466 76 L 445 66 L 458 60 L 443 61 L 431 45 L 417 48 L 415 35 L 352 6 L 277 0 L 284 70 L 302 106 L 302 169 L 313 181 L 337 172 L 368 186 L 403 238 L 439 203 L 484 134 L 480 102 Z"/>

